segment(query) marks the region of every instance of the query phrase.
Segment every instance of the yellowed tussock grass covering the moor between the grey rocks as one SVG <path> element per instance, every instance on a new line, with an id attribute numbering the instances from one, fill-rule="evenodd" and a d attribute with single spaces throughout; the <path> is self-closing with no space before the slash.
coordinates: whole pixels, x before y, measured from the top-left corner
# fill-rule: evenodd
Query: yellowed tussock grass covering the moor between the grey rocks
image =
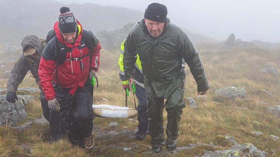
<path id="1" fill-rule="evenodd" d="M 272 66 L 280 68 L 280 51 L 258 48 L 225 51 L 221 50 L 220 47 L 220 44 L 204 44 L 197 46 L 197 49 L 201 51 L 200 57 L 211 88 L 207 92 L 206 101 L 195 98 L 197 86 L 186 65 L 184 97 L 193 97 L 200 108 L 195 109 L 187 105 L 186 108 L 184 108 L 180 122 L 178 147 L 197 142 L 215 142 L 217 141 L 217 136 L 228 135 L 235 137 L 236 142 L 240 144 L 250 142 L 260 150 L 266 152 L 276 149 L 277 152 L 275 154 L 269 154 L 269 156 L 280 156 L 280 142 L 268 137 L 271 134 L 280 137 L 280 119 L 273 116 L 267 110 L 266 105 L 259 103 L 260 101 L 264 101 L 268 102 L 269 106 L 273 106 L 279 102 L 280 77 L 275 77 L 271 74 L 262 74 L 259 73 L 259 70 Z M 119 54 L 118 50 L 109 52 L 102 49 L 100 59 L 101 66 L 100 70 L 97 72 L 99 87 L 94 88 L 94 104 L 125 106 L 125 92 L 121 88 L 122 85 L 118 76 Z M 7 79 L 0 80 L 0 88 L 6 88 L 6 84 Z M 244 101 L 241 99 L 228 100 L 215 97 L 213 89 L 219 89 L 225 86 L 244 87 L 247 90 L 247 98 L 251 98 L 252 101 Z M 37 88 L 37 84 L 33 78 L 27 76 L 20 87 Z M 263 89 L 268 90 L 275 97 L 272 98 L 268 96 Z M 101 98 L 106 98 L 108 101 L 103 101 Z M 134 108 L 133 101 L 133 95 L 130 93 L 128 98 L 128 105 L 130 108 Z M 26 106 L 26 110 L 28 116 L 32 118 L 38 118 L 38 116 L 40 117 L 42 115 L 39 100 L 34 100 L 34 102 L 29 103 Z M 165 110 L 163 117 L 164 125 L 166 125 L 167 113 Z M 109 128 L 107 125 L 114 121 L 118 122 L 119 127 L 115 129 Z M 261 125 L 257 125 L 253 121 L 258 121 Z M 123 130 L 125 126 L 128 126 L 128 130 L 135 130 L 138 123 L 128 119 L 95 118 L 94 125 L 103 130 L 119 132 Z M 254 136 L 250 131 L 261 131 L 263 135 Z M 93 133 L 95 133 L 95 130 L 93 130 Z M 76 153 L 77 156 L 108 156 L 105 154 L 98 154 L 98 150 L 106 144 L 131 142 L 131 140 L 127 139 L 108 140 L 105 143 L 96 141 L 96 149 L 91 152 L 86 151 L 86 153 L 83 154 L 84 150 L 71 147 L 71 144 L 69 144 L 66 139 L 59 142 L 59 144 L 63 145 L 62 148 L 57 148 L 57 145 L 49 145 L 47 143 L 47 137 L 48 125 L 39 126 L 32 123 L 30 129 L 19 132 L 17 138 L 14 136 L 11 138 L 17 139 L 17 142 L 32 145 L 32 148 L 35 148 L 34 151 L 31 152 L 32 156 L 48 156 L 50 154 L 52 154 L 52 156 L 67 156 L 69 152 L 73 154 Z M 0 142 L 1 141 L 4 140 L 0 139 Z M 146 136 L 144 141 L 138 143 L 150 145 L 149 136 Z M 229 145 L 225 144 L 223 148 L 219 149 L 225 149 L 227 147 L 229 147 Z M 184 150 L 180 152 L 178 156 L 201 155 L 204 153 L 203 150 L 215 149 L 199 146 L 195 149 Z M 143 147 L 137 150 L 135 156 L 140 156 L 140 154 L 145 151 L 147 151 L 147 148 Z M 49 152 L 49 154 L 47 154 L 47 152 Z M 113 156 L 126 156 L 121 151 L 113 151 L 110 153 L 112 153 Z"/>

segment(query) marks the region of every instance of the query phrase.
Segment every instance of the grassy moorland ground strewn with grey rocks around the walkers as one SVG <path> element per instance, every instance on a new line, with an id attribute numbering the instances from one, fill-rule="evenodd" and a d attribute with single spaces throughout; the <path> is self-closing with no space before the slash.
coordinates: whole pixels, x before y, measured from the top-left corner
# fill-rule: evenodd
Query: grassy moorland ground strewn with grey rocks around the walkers
<path id="1" fill-rule="evenodd" d="M 207 95 L 196 96 L 196 83 L 186 68 L 186 108 L 175 151 L 164 148 L 160 154 L 153 154 L 149 135 L 136 141 L 137 118 L 94 119 L 92 150 L 73 147 L 67 138 L 48 144 L 49 124 L 42 118 L 38 86 L 29 75 L 19 86 L 15 104 L 5 100 L 7 77 L 0 79 L 0 150 L 13 154 L 9 156 L 280 156 L 280 53 L 204 48 L 197 49 L 202 51 L 211 88 Z M 119 53 L 102 49 L 102 56 L 100 87 L 94 89 L 93 103 L 124 106 L 125 93 L 118 78 Z M 0 72 L 10 70 L 13 63 L 0 61 L 5 66 Z M 132 108 L 133 104 L 129 96 L 128 106 Z M 163 115 L 166 129 L 165 111 Z"/>

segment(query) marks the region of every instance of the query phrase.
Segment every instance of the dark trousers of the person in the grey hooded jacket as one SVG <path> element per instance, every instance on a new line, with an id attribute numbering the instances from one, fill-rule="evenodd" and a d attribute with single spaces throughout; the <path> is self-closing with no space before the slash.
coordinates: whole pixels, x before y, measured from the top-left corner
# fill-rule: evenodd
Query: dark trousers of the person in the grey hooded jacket
<path id="1" fill-rule="evenodd" d="M 40 98 L 40 101 L 43 115 L 50 123 L 50 137 L 54 140 L 59 140 L 61 135 L 65 133 L 65 129 L 63 125 L 61 125 L 61 120 L 59 118 L 58 112 L 50 110 L 50 108 L 48 108 L 48 100 Z"/>

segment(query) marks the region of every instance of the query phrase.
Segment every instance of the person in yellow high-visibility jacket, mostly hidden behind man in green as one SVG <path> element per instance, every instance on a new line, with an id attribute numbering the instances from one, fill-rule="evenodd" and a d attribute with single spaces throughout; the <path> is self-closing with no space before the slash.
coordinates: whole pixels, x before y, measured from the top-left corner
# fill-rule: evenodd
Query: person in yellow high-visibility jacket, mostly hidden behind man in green
<path id="1" fill-rule="evenodd" d="M 118 60 L 118 65 L 120 66 L 120 79 L 122 80 L 123 83 L 123 89 L 126 90 L 126 88 L 129 89 L 129 84 L 128 84 L 128 80 L 125 78 L 125 73 L 124 73 L 124 69 L 123 69 L 123 51 L 124 51 L 124 45 L 125 40 L 123 41 L 123 43 L 120 46 L 120 50 L 121 50 L 121 54 L 120 54 L 120 58 Z M 134 71 L 134 82 L 135 82 L 135 94 L 136 97 L 138 99 L 138 107 L 137 107 L 137 111 L 138 111 L 138 121 L 139 121 L 139 125 L 138 125 L 138 131 L 135 134 L 135 137 L 137 140 L 142 141 L 146 134 L 149 133 L 149 121 L 148 121 L 148 116 L 147 116 L 147 105 L 148 105 L 148 101 L 147 101 L 147 96 L 145 94 L 145 90 L 144 90 L 144 84 L 143 84 L 143 73 L 142 73 L 142 67 L 141 67 L 141 61 L 139 58 L 139 55 L 137 55 L 137 60 L 135 63 L 135 71 Z"/>

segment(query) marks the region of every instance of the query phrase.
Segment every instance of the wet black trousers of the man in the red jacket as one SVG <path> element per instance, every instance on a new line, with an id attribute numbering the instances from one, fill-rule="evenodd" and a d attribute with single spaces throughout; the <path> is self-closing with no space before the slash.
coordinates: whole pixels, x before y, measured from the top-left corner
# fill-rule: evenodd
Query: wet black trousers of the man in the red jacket
<path id="1" fill-rule="evenodd" d="M 90 84 L 85 83 L 84 88 L 78 88 L 71 95 L 69 89 L 59 85 L 54 87 L 59 101 L 59 116 L 66 129 L 70 142 L 80 147 L 85 147 L 83 138 L 92 135 L 94 114 L 92 111 L 92 95 L 90 94 Z"/>

